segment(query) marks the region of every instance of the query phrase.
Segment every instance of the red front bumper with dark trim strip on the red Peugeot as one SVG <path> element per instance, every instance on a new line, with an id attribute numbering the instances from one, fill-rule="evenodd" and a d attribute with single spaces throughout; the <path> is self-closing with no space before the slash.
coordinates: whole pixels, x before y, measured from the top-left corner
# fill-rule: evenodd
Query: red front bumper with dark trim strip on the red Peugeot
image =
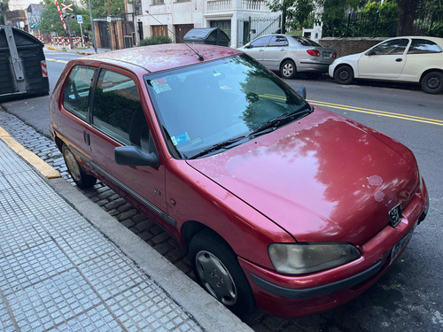
<path id="1" fill-rule="evenodd" d="M 395 228 L 386 226 L 359 246 L 361 258 L 315 274 L 284 275 L 239 259 L 257 305 L 282 317 L 318 313 L 341 305 L 367 290 L 392 266 L 408 245 L 410 235 L 426 216 L 427 190 L 416 194 Z M 400 248 L 399 248 L 400 244 Z"/>

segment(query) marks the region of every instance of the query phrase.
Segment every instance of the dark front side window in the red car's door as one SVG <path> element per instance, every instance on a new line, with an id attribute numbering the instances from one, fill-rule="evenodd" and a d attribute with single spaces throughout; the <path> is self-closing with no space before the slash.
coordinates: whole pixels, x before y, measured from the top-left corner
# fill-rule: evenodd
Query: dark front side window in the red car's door
<path id="1" fill-rule="evenodd" d="M 149 151 L 149 129 L 136 83 L 102 69 L 94 95 L 92 124 L 116 141 Z"/>

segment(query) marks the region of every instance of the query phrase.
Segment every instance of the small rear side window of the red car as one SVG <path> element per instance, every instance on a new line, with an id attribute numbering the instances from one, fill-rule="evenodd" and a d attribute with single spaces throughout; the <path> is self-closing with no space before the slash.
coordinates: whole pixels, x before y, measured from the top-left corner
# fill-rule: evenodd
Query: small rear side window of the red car
<path id="1" fill-rule="evenodd" d="M 82 120 L 88 116 L 89 90 L 96 68 L 74 66 L 63 91 L 63 106 Z"/>

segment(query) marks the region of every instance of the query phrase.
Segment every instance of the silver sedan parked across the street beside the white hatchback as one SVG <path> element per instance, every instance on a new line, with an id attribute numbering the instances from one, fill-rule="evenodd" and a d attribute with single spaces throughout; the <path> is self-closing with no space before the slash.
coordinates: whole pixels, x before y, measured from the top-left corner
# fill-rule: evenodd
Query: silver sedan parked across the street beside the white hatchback
<path id="1" fill-rule="evenodd" d="M 291 79 L 296 73 L 318 78 L 322 73 L 328 73 L 328 67 L 337 58 L 336 50 L 298 35 L 263 35 L 239 50 L 270 70 L 280 72 L 285 79 Z"/>

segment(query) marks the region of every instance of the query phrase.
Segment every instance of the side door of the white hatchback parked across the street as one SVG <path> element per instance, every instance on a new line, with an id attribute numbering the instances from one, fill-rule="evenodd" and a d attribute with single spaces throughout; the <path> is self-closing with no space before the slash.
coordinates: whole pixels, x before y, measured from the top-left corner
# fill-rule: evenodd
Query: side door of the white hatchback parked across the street
<path id="1" fill-rule="evenodd" d="M 395 80 L 406 63 L 408 38 L 397 38 L 382 42 L 361 55 L 358 61 L 358 77 Z"/>

